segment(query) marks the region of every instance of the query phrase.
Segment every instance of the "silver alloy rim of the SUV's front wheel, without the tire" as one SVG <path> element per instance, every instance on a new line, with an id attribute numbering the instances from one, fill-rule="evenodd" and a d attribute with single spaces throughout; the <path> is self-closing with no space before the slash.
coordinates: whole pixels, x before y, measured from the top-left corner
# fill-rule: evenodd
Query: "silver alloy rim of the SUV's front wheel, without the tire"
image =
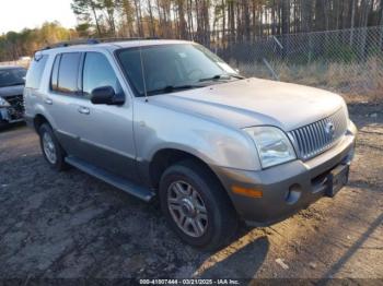
<path id="1" fill-rule="evenodd" d="M 176 225 L 186 235 L 201 237 L 208 228 L 208 213 L 198 191 L 185 181 L 167 189 L 167 207 Z"/>

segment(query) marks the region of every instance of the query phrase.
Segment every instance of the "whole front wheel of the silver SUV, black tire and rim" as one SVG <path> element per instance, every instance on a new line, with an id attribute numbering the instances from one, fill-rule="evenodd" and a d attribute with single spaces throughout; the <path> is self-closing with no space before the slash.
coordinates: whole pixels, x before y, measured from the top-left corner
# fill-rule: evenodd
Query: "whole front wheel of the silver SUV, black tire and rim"
<path id="1" fill-rule="evenodd" d="M 169 167 L 161 178 L 159 195 L 170 226 L 193 247 L 216 250 L 236 233 L 237 215 L 225 190 L 212 171 L 197 162 Z"/>

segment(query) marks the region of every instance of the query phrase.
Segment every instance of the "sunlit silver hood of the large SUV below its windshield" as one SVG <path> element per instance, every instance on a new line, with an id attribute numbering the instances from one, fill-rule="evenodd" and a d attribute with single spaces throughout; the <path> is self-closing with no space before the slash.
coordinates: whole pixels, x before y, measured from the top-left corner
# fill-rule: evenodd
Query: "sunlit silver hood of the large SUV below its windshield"
<path id="1" fill-rule="evenodd" d="M 156 95 L 150 103 L 236 128 L 270 124 L 285 131 L 328 117 L 345 106 L 344 99 L 330 92 L 260 79 Z"/>

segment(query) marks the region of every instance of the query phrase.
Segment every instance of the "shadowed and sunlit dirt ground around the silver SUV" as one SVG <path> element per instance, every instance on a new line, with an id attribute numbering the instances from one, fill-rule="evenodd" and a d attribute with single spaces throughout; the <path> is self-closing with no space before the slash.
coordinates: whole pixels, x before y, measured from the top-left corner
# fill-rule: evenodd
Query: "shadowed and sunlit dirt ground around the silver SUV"
<path id="1" fill-rule="evenodd" d="M 352 105 L 350 182 L 335 199 L 207 253 L 158 204 L 77 169 L 55 172 L 26 127 L 0 132 L 0 278 L 383 278 L 383 105 Z M 381 281 L 382 282 L 382 281 Z"/>

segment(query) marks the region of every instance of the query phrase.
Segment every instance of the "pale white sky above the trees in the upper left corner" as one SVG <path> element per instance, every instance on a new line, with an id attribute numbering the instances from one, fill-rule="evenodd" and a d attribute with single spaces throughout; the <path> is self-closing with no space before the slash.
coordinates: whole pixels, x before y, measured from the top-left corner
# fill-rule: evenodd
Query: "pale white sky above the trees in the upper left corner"
<path id="1" fill-rule="evenodd" d="M 65 27 L 74 27 L 76 16 L 71 0 L 0 0 L 0 35 L 24 27 L 34 28 L 44 22 L 58 21 Z"/>

